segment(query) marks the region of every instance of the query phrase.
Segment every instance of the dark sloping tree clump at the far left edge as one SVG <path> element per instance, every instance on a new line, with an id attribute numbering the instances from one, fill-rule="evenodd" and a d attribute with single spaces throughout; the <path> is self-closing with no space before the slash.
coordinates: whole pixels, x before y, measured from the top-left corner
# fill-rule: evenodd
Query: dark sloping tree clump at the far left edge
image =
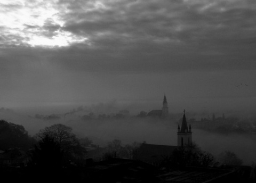
<path id="1" fill-rule="evenodd" d="M 0 120 L 0 149 L 29 149 L 35 143 L 22 125 Z"/>

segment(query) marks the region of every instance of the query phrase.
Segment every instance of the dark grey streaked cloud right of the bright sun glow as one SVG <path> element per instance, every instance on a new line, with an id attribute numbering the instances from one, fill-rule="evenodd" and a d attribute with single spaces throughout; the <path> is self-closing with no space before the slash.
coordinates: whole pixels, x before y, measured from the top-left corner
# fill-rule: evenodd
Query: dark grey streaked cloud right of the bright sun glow
<path id="1" fill-rule="evenodd" d="M 95 56 L 96 63 L 100 62 L 101 65 L 99 60 L 113 60 L 112 68 L 119 60 L 125 62 L 128 70 L 130 67 L 127 64 L 135 64 L 134 68 L 145 65 L 145 69 L 150 69 L 150 62 L 163 65 L 159 62 L 167 63 L 166 60 L 169 62 L 165 68 L 177 69 L 173 67 L 173 60 L 180 60 L 180 67 L 184 68 L 182 63 L 187 62 L 188 58 L 191 61 L 186 65 L 192 69 L 193 65 L 205 68 L 208 62 L 211 65 L 209 68 L 214 68 L 212 60 L 231 64 L 237 58 L 237 51 L 243 49 L 246 52 L 247 41 L 251 43 L 254 39 L 255 26 L 252 21 L 256 11 L 253 6 L 229 7 L 230 3 L 223 1 L 202 10 L 206 5 L 200 2 L 186 5 L 182 1 L 109 1 L 106 9 L 86 12 L 81 11 L 81 4 L 74 4 L 68 6 L 71 12 L 66 15 L 68 18 L 64 29 L 89 37 L 92 49 L 85 51 L 86 55 L 90 57 L 100 52 L 102 59 L 100 55 Z M 244 55 L 249 59 L 255 56 L 252 52 Z M 206 65 L 205 59 L 209 60 Z M 191 66 L 190 62 L 195 64 Z M 243 67 L 250 65 L 251 68 L 251 61 L 247 62 L 243 62 Z M 156 68 L 152 67 L 153 70 Z M 228 69 L 228 64 L 221 65 L 221 68 Z"/>

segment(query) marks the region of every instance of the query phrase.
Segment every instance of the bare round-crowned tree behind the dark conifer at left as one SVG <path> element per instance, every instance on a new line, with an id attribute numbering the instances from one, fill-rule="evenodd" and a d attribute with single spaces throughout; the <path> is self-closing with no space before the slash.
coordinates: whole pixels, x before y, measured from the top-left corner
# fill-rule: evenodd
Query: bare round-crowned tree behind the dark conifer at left
<path id="1" fill-rule="evenodd" d="M 84 157 L 86 150 L 73 134 L 72 128 L 64 124 L 53 124 L 46 127 L 36 134 L 40 140 L 51 138 L 61 149 L 65 159 L 75 160 Z"/>

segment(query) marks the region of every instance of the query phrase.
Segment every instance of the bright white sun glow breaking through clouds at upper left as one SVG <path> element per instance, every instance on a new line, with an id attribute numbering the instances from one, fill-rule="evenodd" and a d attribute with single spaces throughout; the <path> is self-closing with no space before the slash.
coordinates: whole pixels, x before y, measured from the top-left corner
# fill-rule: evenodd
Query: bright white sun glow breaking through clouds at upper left
<path id="1" fill-rule="evenodd" d="M 67 12 L 58 1 L 3 0 L 0 2 L 1 45 L 69 46 L 89 44 L 86 37 L 63 30 L 61 15 Z M 87 42 L 86 42 L 87 41 Z"/>

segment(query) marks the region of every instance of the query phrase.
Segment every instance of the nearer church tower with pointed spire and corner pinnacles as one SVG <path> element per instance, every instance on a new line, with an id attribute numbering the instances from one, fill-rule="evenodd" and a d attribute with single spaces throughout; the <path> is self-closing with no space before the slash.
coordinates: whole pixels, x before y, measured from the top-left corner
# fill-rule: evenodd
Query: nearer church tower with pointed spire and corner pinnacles
<path id="1" fill-rule="evenodd" d="M 191 126 L 189 124 L 189 128 L 187 125 L 187 120 L 185 116 L 185 110 L 183 111 L 183 120 L 181 124 L 178 126 L 178 146 L 189 146 L 192 143 L 192 131 L 191 131 Z"/>

